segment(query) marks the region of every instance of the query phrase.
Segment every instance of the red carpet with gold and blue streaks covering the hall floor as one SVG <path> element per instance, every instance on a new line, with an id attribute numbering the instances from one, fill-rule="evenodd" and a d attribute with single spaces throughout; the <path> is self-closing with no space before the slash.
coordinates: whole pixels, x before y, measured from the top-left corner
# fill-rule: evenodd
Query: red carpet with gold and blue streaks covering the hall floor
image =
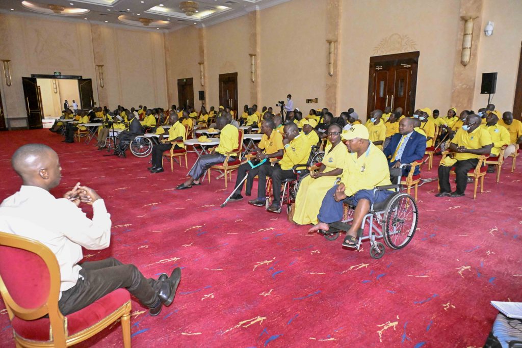
<path id="1" fill-rule="evenodd" d="M 341 238 L 308 234 L 284 212 L 246 201 L 221 209 L 230 189 L 216 175 L 177 191 L 187 172 L 179 166 L 149 174 L 148 159 L 102 157 L 48 130 L 3 132 L 0 140 L 0 199 L 21 183 L 10 168 L 13 151 L 46 143 L 63 167 L 53 193 L 80 181 L 112 214 L 110 248 L 86 258 L 114 256 L 146 276 L 182 267 L 175 301 L 160 316 L 133 301 L 134 347 L 479 347 L 496 315 L 490 300 L 522 301 L 522 164 L 511 174 L 511 159 L 500 184 L 486 177 L 477 200 L 471 185 L 454 199 L 433 197 L 436 182 L 420 187 L 413 241 L 374 260 L 367 242 L 360 252 L 345 250 Z M 423 172 L 435 176 L 436 167 Z M 0 346 L 14 347 L 5 309 Z M 79 346 L 122 346 L 121 328 Z"/>

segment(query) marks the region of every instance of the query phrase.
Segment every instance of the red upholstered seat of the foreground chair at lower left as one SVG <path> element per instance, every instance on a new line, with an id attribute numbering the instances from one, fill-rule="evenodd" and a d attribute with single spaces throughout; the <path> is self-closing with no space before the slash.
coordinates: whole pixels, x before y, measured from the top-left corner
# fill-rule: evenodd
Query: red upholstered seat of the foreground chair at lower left
<path id="1" fill-rule="evenodd" d="M 84 309 L 66 316 L 66 332 L 69 335 L 73 335 L 93 326 L 103 318 L 109 316 L 117 308 L 123 306 L 129 299 L 131 299 L 131 295 L 129 295 L 125 289 L 118 289 L 103 296 Z M 51 327 L 51 323 L 49 318 L 22 320 L 18 317 L 14 317 L 13 321 L 11 321 L 11 325 L 13 325 L 16 334 L 22 338 L 34 341 L 50 341 L 49 328 Z"/>

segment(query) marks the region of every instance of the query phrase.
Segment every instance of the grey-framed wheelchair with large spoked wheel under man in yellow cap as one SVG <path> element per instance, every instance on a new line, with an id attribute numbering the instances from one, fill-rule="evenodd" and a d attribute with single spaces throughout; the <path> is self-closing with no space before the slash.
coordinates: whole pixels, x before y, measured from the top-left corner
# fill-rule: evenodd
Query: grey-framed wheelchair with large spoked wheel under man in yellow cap
<path id="1" fill-rule="evenodd" d="M 389 195 L 386 200 L 375 203 L 370 207 L 370 211 L 364 215 L 361 228 L 357 233 L 357 249 L 359 250 L 363 241 L 370 240 L 370 256 L 380 259 L 384 256 L 385 247 L 376 239 L 383 238 L 386 246 L 392 249 L 402 249 L 411 242 L 417 229 L 419 211 L 417 203 L 410 195 L 400 191 L 400 178 L 402 167 L 409 164 L 401 164 L 400 168 L 390 168 L 390 175 L 398 177 L 396 185 L 378 186 L 374 189 L 387 190 L 395 189 L 395 193 Z M 350 230 L 349 222 L 353 220 L 355 205 L 349 199 L 345 203 L 345 214 L 342 221 L 330 223 L 328 231 L 319 230 L 318 233 L 324 235 L 328 241 L 335 241 L 341 232 Z M 368 224 L 368 234 L 364 234 L 364 227 Z"/>

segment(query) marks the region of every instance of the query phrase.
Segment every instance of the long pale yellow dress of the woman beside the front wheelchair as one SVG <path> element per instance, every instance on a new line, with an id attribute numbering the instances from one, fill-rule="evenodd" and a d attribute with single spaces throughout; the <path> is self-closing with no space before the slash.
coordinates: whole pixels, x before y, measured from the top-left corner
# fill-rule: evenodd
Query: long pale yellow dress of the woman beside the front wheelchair
<path id="1" fill-rule="evenodd" d="M 331 144 L 326 147 L 323 164 L 326 166 L 323 173 L 328 173 L 336 168 L 345 167 L 348 157 L 346 145 L 340 141 L 335 148 Z M 326 191 L 332 188 L 338 176 L 321 176 L 316 179 L 306 176 L 299 184 L 299 191 L 295 197 L 295 212 L 293 221 L 300 225 L 316 224 L 317 214 Z"/>

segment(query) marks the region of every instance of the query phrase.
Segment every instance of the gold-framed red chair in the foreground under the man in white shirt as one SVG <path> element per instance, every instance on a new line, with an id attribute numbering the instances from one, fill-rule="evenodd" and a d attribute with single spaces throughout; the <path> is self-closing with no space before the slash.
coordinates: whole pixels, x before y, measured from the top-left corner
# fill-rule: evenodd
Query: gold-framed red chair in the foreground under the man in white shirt
<path id="1" fill-rule="evenodd" d="M 115 290 L 64 316 L 58 308 L 60 285 L 60 266 L 48 247 L 30 238 L 0 232 L 0 293 L 17 347 L 70 346 L 118 319 L 124 347 L 131 347 L 131 297 L 127 290 Z"/>

